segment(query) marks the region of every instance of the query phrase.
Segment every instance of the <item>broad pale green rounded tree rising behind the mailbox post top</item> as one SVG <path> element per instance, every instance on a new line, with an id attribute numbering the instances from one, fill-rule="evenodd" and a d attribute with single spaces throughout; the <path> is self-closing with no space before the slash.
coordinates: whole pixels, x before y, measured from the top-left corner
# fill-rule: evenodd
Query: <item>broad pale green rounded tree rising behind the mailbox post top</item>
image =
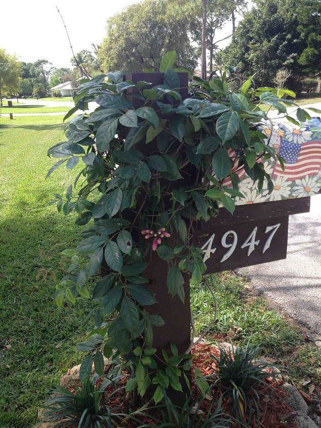
<path id="1" fill-rule="evenodd" d="M 196 48 L 191 37 L 199 25 L 198 2 L 145 0 L 107 21 L 107 36 L 98 50 L 102 69 L 159 69 L 165 52 L 176 50 L 178 67 L 194 70 Z"/>

